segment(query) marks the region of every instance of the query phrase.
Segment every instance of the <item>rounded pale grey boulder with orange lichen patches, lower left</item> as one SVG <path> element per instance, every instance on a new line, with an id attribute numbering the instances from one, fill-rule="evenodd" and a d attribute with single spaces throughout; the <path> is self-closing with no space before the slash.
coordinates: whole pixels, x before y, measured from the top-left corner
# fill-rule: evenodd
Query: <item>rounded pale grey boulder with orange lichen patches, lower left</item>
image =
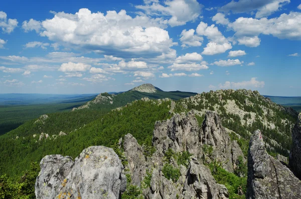
<path id="1" fill-rule="evenodd" d="M 119 198 L 126 178 L 113 149 L 91 146 L 73 162 L 71 157 L 47 155 L 35 184 L 37 198 Z"/>

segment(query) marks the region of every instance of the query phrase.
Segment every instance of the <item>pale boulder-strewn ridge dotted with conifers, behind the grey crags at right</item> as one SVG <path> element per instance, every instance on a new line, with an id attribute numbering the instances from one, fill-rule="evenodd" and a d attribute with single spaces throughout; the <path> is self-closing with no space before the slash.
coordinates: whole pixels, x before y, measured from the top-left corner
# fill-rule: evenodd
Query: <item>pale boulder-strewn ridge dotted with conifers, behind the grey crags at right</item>
<path id="1" fill-rule="evenodd" d="M 291 131 L 298 113 L 292 108 L 275 104 L 269 98 L 246 89 L 217 90 L 184 98 L 178 109 L 195 109 L 198 115 L 211 110 L 218 113 L 223 125 L 240 133 L 235 126 L 243 127 L 244 139 L 249 139 L 255 129 L 268 130 L 264 141 L 269 151 L 288 155 Z M 230 125 L 229 125 L 230 124 Z M 241 129 L 241 127 L 239 127 Z"/>

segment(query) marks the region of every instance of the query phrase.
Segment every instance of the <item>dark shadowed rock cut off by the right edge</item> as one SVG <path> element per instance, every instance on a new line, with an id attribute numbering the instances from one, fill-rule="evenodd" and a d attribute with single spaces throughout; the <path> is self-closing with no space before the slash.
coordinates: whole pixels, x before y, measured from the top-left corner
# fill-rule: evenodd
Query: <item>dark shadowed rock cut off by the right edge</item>
<path id="1" fill-rule="evenodd" d="M 289 154 L 289 165 L 298 178 L 301 178 L 301 113 L 292 130 L 292 145 Z"/>

